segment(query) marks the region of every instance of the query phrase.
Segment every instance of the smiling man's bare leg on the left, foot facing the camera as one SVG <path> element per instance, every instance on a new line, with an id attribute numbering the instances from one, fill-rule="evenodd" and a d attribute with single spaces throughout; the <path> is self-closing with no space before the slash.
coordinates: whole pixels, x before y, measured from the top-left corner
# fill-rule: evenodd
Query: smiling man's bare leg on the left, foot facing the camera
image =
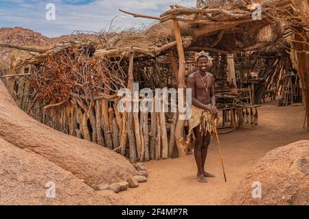
<path id="1" fill-rule="evenodd" d="M 198 182 L 207 183 L 207 180 L 204 177 L 204 169 L 202 166 L 203 136 L 201 136 L 199 127 L 194 128 L 194 135 L 196 138 L 196 142 L 194 146 L 194 158 L 195 158 L 196 166 L 198 168 L 198 173 L 197 173 Z"/>

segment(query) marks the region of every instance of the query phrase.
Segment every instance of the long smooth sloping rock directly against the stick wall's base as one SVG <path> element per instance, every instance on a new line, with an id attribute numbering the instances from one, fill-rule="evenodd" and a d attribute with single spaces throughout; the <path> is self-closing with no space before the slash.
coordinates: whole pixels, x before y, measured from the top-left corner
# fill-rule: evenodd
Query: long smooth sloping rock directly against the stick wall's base
<path id="1" fill-rule="evenodd" d="M 87 140 L 67 136 L 39 123 L 14 103 L 0 81 L 0 136 L 20 149 L 29 149 L 87 185 L 126 181 L 135 175 L 127 159 Z"/>

